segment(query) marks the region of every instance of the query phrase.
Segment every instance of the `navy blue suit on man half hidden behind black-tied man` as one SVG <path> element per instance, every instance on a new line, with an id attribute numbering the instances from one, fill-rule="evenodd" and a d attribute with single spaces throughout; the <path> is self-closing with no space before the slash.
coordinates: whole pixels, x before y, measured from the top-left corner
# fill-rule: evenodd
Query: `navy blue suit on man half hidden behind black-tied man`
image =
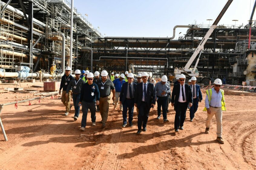
<path id="1" fill-rule="evenodd" d="M 194 89 L 193 89 L 194 85 L 191 84 L 190 86 L 191 86 L 191 91 L 193 92 L 194 91 Z M 192 96 L 193 97 L 193 105 L 190 107 L 190 120 L 192 120 L 195 117 L 195 112 L 198 109 L 198 102 L 199 101 L 201 102 L 203 100 L 203 96 L 202 96 L 202 93 L 201 93 L 201 90 L 200 90 L 200 86 L 195 84 L 195 90 L 196 90 L 195 91 L 195 97 L 196 98 L 194 98 L 194 96 Z M 193 95 L 193 93 L 192 93 L 192 95 Z"/>

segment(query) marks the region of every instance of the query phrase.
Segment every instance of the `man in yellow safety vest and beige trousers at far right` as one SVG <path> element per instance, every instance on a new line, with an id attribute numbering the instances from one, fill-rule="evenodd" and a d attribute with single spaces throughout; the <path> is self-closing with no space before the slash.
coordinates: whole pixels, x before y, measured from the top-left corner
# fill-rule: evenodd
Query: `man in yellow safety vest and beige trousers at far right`
<path id="1" fill-rule="evenodd" d="M 217 121 L 217 140 L 219 143 L 224 143 L 222 139 L 222 111 L 226 111 L 226 104 L 224 90 L 220 89 L 221 85 L 221 80 L 217 78 L 214 81 L 214 88 L 206 90 L 205 108 L 203 111 L 207 111 L 205 133 L 209 134 L 212 117 L 215 115 Z"/>

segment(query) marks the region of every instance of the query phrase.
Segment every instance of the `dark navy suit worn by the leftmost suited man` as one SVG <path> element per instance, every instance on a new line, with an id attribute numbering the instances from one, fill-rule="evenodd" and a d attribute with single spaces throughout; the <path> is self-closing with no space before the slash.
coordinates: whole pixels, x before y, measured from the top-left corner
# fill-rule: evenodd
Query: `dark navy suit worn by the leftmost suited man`
<path id="1" fill-rule="evenodd" d="M 133 82 L 133 97 L 130 97 L 131 99 L 127 99 L 126 98 L 126 94 L 127 94 L 127 87 L 128 87 L 128 82 L 123 83 L 123 86 L 121 88 L 121 92 L 120 92 L 120 101 L 123 104 L 123 124 L 127 123 L 127 108 L 129 109 L 129 124 L 132 123 L 133 121 L 133 109 L 134 109 L 134 96 L 135 96 L 135 90 L 136 90 L 136 86 L 137 84 Z M 129 91 L 128 91 L 129 93 Z"/>

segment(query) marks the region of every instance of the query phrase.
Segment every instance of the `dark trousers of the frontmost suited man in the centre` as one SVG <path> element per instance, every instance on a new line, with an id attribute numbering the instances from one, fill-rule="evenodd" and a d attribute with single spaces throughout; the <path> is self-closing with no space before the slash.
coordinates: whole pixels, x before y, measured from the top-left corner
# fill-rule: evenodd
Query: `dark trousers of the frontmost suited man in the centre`
<path id="1" fill-rule="evenodd" d="M 146 128 L 148 118 L 149 118 L 149 110 L 146 102 L 141 102 L 139 106 L 139 114 L 138 114 L 138 130 L 141 130 L 141 125 L 143 128 Z"/>

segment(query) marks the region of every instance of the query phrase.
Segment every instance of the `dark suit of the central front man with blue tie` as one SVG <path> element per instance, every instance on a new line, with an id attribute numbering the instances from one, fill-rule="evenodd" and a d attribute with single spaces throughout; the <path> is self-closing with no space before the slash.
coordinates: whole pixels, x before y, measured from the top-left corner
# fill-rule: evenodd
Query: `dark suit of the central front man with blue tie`
<path id="1" fill-rule="evenodd" d="M 141 125 L 143 126 L 143 128 L 146 128 L 151 104 L 156 104 L 155 87 L 152 83 L 149 83 L 149 82 L 148 82 L 147 91 L 146 91 L 147 92 L 146 101 L 144 102 L 142 101 L 143 86 L 144 86 L 143 82 L 137 85 L 135 90 L 135 97 L 134 97 L 134 103 L 136 103 L 137 108 L 139 108 L 138 130 L 141 130 Z"/>

